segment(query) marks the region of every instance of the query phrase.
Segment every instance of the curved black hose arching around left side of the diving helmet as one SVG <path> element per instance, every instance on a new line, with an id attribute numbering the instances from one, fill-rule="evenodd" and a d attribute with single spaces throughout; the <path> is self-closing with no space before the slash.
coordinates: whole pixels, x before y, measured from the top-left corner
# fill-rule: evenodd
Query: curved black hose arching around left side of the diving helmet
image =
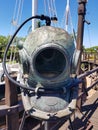
<path id="1" fill-rule="evenodd" d="M 25 20 L 19 27 L 18 29 L 15 31 L 15 33 L 13 34 L 12 38 L 10 39 L 9 43 L 7 44 L 6 46 L 6 49 L 5 49 L 5 52 L 4 52 L 4 58 L 3 58 L 3 70 L 4 70 L 4 73 L 6 74 L 6 76 L 8 77 L 8 79 L 13 82 L 14 84 L 16 84 L 17 86 L 23 88 L 23 89 L 28 89 L 28 90 L 31 90 L 31 91 L 34 91 L 35 89 L 33 87 L 28 87 L 26 85 L 23 85 L 23 84 L 20 84 L 19 82 L 15 81 L 8 73 L 7 71 L 7 68 L 6 68 L 6 57 L 7 57 L 7 53 L 8 53 L 8 50 L 10 48 L 10 45 L 12 44 L 14 38 L 16 37 L 17 33 L 20 31 L 20 29 L 30 20 L 32 19 L 40 19 L 40 20 L 46 20 L 46 25 L 49 25 L 51 24 L 51 20 L 50 20 L 50 17 L 48 16 L 44 16 L 44 15 L 36 15 L 36 16 L 33 16 L 33 17 L 30 17 L 28 18 L 27 20 Z M 49 23 L 50 22 L 50 23 Z"/>

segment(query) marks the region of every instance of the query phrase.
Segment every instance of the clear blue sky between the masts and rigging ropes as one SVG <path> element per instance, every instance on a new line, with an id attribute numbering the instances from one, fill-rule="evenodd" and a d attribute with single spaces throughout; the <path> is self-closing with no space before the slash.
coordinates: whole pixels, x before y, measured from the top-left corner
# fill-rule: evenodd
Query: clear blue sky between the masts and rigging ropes
<path id="1" fill-rule="evenodd" d="M 23 11 L 21 16 L 22 23 L 25 19 L 29 18 L 32 13 L 32 0 L 24 0 L 23 3 Z M 0 0 L 0 35 L 10 35 L 13 33 L 11 28 L 14 28 L 11 25 L 11 21 L 14 15 L 15 10 L 15 2 L 16 0 Z M 55 0 L 58 23 L 59 27 L 61 27 L 62 19 L 64 16 L 64 11 L 66 7 L 66 0 Z M 48 5 L 46 6 L 48 8 Z M 86 11 L 86 20 L 90 21 L 90 25 L 85 24 L 84 29 L 84 46 L 98 46 L 98 0 L 88 0 L 87 3 L 87 11 Z M 70 0 L 70 11 L 71 11 L 71 22 L 73 24 L 73 28 L 77 32 L 77 22 L 78 22 L 78 3 L 77 0 Z M 44 14 L 44 0 L 38 0 L 38 14 Z M 24 27 L 24 30 L 21 31 L 20 34 L 26 35 L 28 28 L 31 23 L 28 23 L 28 27 Z"/>

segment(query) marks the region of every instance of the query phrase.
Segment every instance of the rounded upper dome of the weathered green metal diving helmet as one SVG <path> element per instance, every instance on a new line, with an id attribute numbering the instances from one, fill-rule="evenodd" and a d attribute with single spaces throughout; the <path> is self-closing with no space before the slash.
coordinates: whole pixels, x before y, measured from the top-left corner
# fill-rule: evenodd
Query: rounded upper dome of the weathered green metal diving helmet
<path id="1" fill-rule="evenodd" d="M 40 82 L 56 86 L 68 81 L 75 50 L 72 37 L 60 28 L 44 26 L 32 32 L 20 50 L 28 84 Z"/>

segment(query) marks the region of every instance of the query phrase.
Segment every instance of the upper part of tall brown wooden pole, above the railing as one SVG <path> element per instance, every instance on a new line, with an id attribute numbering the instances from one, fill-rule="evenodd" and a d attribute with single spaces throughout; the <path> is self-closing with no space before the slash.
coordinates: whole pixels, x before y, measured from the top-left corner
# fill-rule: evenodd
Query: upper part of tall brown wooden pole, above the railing
<path id="1" fill-rule="evenodd" d="M 83 48 L 83 34 L 84 34 L 84 22 L 85 22 L 85 14 L 86 14 L 86 3 L 87 0 L 79 0 L 79 7 L 78 7 L 78 30 L 77 30 L 77 50 L 81 51 L 82 54 L 82 48 Z M 81 54 L 80 54 L 80 60 L 78 64 L 77 69 L 77 75 L 81 73 L 80 71 L 80 65 L 81 65 Z"/>

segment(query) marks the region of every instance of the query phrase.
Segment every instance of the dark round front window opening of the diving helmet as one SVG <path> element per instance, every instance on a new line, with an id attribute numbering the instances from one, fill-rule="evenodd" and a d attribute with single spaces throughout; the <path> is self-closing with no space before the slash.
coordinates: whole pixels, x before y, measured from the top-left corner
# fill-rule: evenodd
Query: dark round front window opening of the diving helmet
<path id="1" fill-rule="evenodd" d="M 54 47 L 40 50 L 33 62 L 35 71 L 44 78 L 56 78 L 66 67 L 64 53 Z"/>

